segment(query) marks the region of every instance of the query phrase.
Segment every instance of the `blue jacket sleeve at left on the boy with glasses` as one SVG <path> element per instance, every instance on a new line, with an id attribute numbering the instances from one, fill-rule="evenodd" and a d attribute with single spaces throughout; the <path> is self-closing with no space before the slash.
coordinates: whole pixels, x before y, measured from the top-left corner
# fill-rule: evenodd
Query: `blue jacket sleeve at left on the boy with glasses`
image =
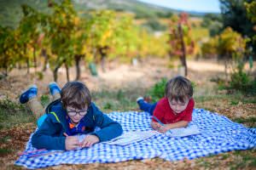
<path id="1" fill-rule="evenodd" d="M 32 136 L 32 146 L 37 149 L 65 150 L 65 137 L 61 134 L 61 124 L 48 116 L 38 131 Z"/>

